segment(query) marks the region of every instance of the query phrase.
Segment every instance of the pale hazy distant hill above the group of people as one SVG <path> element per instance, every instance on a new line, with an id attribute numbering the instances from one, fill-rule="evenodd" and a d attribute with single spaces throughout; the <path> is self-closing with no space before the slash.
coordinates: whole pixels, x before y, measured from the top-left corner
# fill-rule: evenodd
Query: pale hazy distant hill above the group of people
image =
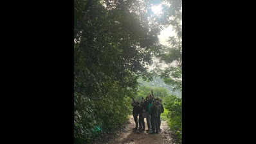
<path id="1" fill-rule="evenodd" d="M 143 81 L 143 79 L 140 78 L 138 79 L 138 83 L 140 84 L 140 86 L 147 86 L 151 88 L 158 88 L 158 87 L 166 88 L 170 94 L 181 97 L 180 90 L 173 91 L 173 87 L 165 84 L 160 77 L 155 77 L 151 82 Z"/>

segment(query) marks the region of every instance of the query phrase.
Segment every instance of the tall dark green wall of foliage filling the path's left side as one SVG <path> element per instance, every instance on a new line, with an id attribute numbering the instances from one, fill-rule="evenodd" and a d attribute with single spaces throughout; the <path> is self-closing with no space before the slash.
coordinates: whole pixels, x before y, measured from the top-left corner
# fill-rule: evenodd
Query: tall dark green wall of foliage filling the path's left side
<path id="1" fill-rule="evenodd" d="M 145 1 L 149 2 L 149 1 Z M 131 114 L 137 79 L 160 53 L 160 26 L 144 1 L 75 0 L 75 143 L 91 143 Z M 148 19 L 150 18 L 150 19 Z"/>

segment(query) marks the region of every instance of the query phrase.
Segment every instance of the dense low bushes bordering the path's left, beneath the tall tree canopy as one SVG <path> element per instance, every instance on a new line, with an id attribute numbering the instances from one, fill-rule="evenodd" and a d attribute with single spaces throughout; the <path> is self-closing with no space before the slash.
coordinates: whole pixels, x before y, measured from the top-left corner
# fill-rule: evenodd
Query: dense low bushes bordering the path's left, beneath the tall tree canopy
<path id="1" fill-rule="evenodd" d="M 123 124 L 131 114 L 130 102 L 125 97 L 93 100 L 75 93 L 75 143 L 89 143 Z"/>

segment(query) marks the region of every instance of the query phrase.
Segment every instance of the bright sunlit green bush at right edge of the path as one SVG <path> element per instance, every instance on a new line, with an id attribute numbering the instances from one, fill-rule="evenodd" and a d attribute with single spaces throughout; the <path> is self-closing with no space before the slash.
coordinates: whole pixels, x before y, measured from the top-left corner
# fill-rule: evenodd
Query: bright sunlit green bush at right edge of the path
<path id="1" fill-rule="evenodd" d="M 168 124 L 174 132 L 175 143 L 182 143 L 182 100 L 174 95 L 165 98 L 164 107 L 168 109 Z"/>

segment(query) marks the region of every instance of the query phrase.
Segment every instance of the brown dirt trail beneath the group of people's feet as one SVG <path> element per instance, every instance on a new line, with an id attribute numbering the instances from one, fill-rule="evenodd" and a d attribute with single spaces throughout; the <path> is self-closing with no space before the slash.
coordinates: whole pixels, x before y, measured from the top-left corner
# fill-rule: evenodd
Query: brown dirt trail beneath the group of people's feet
<path id="1" fill-rule="evenodd" d="M 145 118 L 145 129 L 147 120 Z M 172 144 L 169 126 L 166 121 L 161 120 L 160 134 L 148 134 L 146 131 L 134 132 L 135 122 L 133 116 L 129 116 L 129 122 L 120 131 L 108 134 L 107 140 L 96 140 L 94 144 Z"/>

